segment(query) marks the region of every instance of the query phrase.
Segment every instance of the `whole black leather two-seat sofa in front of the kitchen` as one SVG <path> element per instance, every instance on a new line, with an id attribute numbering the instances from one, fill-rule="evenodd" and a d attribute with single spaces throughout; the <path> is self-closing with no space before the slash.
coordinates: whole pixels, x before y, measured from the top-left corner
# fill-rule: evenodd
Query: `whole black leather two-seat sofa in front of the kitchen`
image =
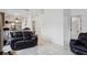
<path id="1" fill-rule="evenodd" d="M 37 35 L 30 31 L 13 31 L 10 32 L 10 46 L 14 51 L 33 47 L 37 45 Z"/>

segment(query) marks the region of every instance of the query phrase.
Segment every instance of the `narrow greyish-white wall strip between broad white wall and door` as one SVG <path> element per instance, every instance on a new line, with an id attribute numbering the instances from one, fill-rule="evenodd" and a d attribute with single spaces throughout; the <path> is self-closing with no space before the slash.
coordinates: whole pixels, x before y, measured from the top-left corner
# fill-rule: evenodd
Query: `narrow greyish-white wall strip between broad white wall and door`
<path id="1" fill-rule="evenodd" d="M 69 48 L 70 41 L 70 10 L 64 10 L 64 47 Z"/>

